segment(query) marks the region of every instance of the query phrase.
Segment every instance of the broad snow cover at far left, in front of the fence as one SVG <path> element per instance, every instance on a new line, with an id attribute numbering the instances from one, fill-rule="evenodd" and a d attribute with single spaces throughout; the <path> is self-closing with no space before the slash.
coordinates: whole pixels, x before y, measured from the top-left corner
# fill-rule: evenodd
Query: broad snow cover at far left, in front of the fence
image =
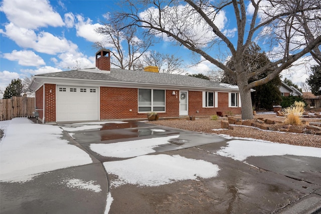
<path id="1" fill-rule="evenodd" d="M 61 139 L 58 126 L 31 123 L 28 118 L 0 121 L 0 181 L 18 182 L 39 173 L 92 163 L 90 156 Z"/>

